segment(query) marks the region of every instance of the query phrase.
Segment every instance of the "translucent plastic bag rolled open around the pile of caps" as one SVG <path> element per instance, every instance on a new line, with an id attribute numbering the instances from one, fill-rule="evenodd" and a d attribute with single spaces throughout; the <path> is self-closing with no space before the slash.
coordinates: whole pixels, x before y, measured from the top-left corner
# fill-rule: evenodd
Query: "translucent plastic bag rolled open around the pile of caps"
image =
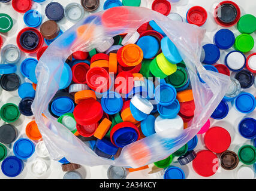
<path id="1" fill-rule="evenodd" d="M 141 24 L 150 20 L 154 20 L 174 42 L 188 68 L 195 100 L 194 118 L 179 135 L 174 135 L 170 128 L 125 146 L 115 160 L 101 158 L 50 115 L 48 104 L 58 91 L 64 62 L 71 53 L 91 51 L 120 33 L 134 33 Z M 200 27 L 172 21 L 142 7 L 115 7 L 101 11 L 68 29 L 47 48 L 35 71 L 38 84 L 32 110 L 50 156 L 55 160 L 65 156 L 70 162 L 89 166 L 108 164 L 137 168 L 167 158 L 191 140 L 210 118 L 230 82 L 228 76 L 207 71 L 201 65 L 201 41 L 205 32 Z M 197 72 L 205 84 L 200 82 Z"/>

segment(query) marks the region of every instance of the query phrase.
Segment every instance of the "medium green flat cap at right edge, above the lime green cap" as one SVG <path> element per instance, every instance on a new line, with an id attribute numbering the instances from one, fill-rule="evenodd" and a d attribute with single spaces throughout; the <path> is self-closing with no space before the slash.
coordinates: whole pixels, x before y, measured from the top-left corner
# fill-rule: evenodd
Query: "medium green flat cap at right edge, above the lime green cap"
<path id="1" fill-rule="evenodd" d="M 251 34 L 255 32 L 256 30 L 256 17 L 254 17 L 251 14 L 245 14 L 242 16 L 238 23 L 237 23 L 237 29 L 240 31 L 240 33 L 247 33 Z"/>

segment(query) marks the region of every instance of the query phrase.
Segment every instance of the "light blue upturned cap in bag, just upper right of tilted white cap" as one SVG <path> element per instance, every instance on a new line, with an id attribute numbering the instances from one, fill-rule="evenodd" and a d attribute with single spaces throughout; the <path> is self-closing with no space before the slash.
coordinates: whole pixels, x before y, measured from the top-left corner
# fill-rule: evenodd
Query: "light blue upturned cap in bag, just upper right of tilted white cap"
<path id="1" fill-rule="evenodd" d="M 170 84 L 160 84 L 155 88 L 155 100 L 163 106 L 173 103 L 176 96 L 177 91 Z"/>

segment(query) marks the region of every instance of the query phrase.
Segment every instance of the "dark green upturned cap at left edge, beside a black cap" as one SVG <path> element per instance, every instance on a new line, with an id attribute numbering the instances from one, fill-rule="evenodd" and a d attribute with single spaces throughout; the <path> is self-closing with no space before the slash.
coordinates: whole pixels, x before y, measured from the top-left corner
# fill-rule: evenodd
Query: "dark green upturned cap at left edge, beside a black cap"
<path id="1" fill-rule="evenodd" d="M 6 103 L 1 107 L 0 115 L 2 120 L 11 123 L 16 121 L 20 116 L 19 107 L 14 103 Z"/>

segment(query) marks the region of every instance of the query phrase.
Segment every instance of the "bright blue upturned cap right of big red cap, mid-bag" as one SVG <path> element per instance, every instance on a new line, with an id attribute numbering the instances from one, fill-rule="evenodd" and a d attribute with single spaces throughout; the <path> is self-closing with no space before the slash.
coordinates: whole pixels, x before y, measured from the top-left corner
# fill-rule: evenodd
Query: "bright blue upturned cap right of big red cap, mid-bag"
<path id="1" fill-rule="evenodd" d="M 120 112 L 123 107 L 123 99 L 119 93 L 115 91 L 107 91 L 101 98 L 101 106 L 105 113 L 109 115 Z"/>

